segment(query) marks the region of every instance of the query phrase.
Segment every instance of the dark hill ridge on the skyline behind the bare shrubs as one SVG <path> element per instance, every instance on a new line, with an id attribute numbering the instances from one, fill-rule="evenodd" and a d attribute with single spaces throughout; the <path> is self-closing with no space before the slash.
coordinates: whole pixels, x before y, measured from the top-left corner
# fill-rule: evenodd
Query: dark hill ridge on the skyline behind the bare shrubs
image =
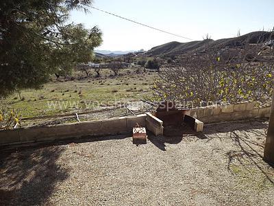
<path id="1" fill-rule="evenodd" d="M 246 41 L 249 43 L 257 43 L 258 39 L 266 40 L 271 36 L 271 32 L 251 32 L 239 37 L 223 38 L 219 40 L 206 39 L 203 41 L 190 41 L 188 43 L 179 43 L 173 41 L 164 45 L 153 47 L 147 51 L 147 56 L 176 56 L 186 54 L 188 52 L 203 52 L 206 46 L 223 49 L 225 47 L 238 47 Z M 271 37 L 274 39 L 274 36 Z"/>

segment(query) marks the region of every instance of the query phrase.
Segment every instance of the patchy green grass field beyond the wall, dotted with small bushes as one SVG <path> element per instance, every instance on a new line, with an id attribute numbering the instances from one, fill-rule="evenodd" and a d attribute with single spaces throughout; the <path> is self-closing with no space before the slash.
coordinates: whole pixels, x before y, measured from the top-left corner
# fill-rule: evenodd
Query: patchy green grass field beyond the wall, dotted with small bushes
<path id="1" fill-rule="evenodd" d="M 90 111 L 120 103 L 137 101 L 151 95 L 151 85 L 158 73 L 136 73 L 136 68 L 121 69 L 119 76 L 112 76 L 109 69 L 102 69 L 101 77 L 95 73 L 86 77 L 81 71 L 73 72 L 75 80 L 60 78 L 45 84 L 42 89 L 27 89 L 10 95 L 3 106 L 14 109 L 21 118 L 60 115 Z"/>

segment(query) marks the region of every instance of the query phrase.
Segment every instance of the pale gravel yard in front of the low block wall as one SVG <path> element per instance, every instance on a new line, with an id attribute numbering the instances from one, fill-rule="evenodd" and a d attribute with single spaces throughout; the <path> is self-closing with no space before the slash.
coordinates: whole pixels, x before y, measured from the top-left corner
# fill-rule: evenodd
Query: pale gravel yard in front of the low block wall
<path id="1" fill-rule="evenodd" d="M 139 146 L 116 136 L 5 150 L 0 205 L 274 205 L 266 128 L 258 120 L 175 128 Z"/>

